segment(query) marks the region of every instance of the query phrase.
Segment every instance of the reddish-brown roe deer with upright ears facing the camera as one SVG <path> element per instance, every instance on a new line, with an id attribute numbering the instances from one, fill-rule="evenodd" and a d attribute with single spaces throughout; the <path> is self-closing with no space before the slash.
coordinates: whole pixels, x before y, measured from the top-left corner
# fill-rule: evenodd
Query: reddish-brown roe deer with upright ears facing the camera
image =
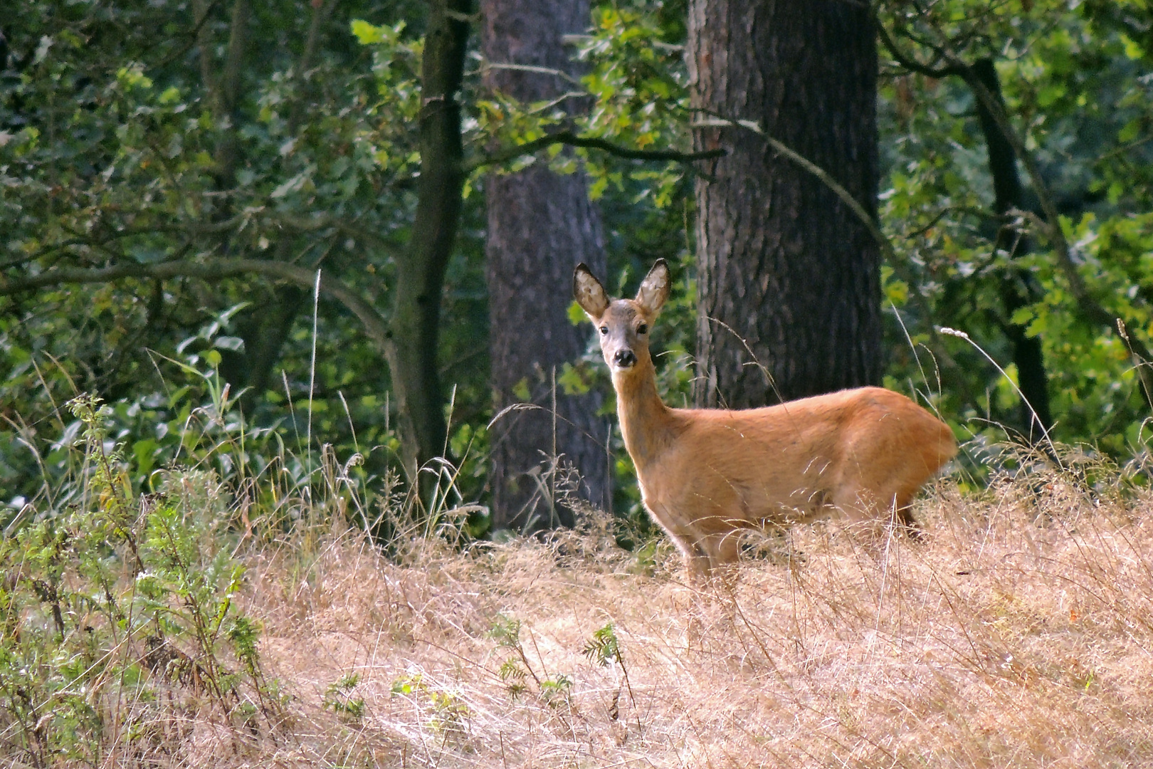
<path id="1" fill-rule="evenodd" d="M 669 408 L 648 349 L 669 297 L 664 259 L 635 299 L 610 300 L 585 264 L 573 294 L 600 331 L 645 506 L 694 575 L 734 564 L 745 528 L 832 511 L 874 534 L 889 520 L 912 527 L 917 490 L 957 453 L 949 425 L 882 387 L 744 410 Z"/>

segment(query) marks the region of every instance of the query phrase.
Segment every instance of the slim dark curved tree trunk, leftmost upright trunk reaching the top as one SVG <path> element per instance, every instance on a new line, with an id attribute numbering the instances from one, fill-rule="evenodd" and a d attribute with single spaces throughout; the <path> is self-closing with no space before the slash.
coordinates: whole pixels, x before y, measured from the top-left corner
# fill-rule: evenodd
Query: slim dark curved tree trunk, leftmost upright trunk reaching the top
<path id="1" fill-rule="evenodd" d="M 469 0 L 432 0 L 421 63 L 421 176 L 416 220 L 397 261 L 389 368 L 400 415 L 405 465 L 416 470 L 446 453 L 447 423 L 437 369 L 440 292 L 460 225 L 465 174 L 460 103 Z"/>

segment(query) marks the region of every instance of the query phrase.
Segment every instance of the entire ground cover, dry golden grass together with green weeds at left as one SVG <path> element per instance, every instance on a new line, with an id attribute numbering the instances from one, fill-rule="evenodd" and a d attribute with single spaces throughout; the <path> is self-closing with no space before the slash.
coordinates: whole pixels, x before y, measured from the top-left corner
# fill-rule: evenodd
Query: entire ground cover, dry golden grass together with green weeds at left
<path id="1" fill-rule="evenodd" d="M 0 766 L 1153 766 L 1153 495 L 1073 452 L 692 585 L 597 511 L 469 541 L 444 473 L 364 505 L 327 452 L 134 492 L 73 406 L 82 492 L 3 541 Z"/>

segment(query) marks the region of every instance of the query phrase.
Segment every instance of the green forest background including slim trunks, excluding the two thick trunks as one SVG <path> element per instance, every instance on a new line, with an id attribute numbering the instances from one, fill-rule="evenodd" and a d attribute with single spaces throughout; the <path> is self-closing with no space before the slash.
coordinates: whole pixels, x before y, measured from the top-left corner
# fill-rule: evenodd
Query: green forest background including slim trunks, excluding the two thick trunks
<path id="1" fill-rule="evenodd" d="M 190 459 L 236 484 L 246 466 L 274 466 L 307 487 L 331 444 L 379 493 L 417 467 L 451 476 L 455 502 L 482 503 L 473 534 L 571 520 L 555 459 L 583 414 L 598 448 L 578 470 L 604 476 L 598 504 L 643 520 L 590 330 L 563 312 L 571 264 L 543 249 L 535 270 L 517 267 L 520 293 L 495 293 L 507 281 L 493 282 L 493 206 L 507 180 L 567 175 L 580 186 L 564 210 L 587 219 L 610 289 L 632 289 L 655 258 L 676 265 L 660 386 L 668 402 L 700 402 L 694 189 L 731 148 L 699 145 L 688 9 L 594 3 L 553 32 L 556 62 L 534 67 L 496 58 L 499 30 L 482 35 L 483 14 L 455 5 L 30 0 L 5 20 L 6 520 L 73 502 L 60 480 L 84 427 L 65 404 L 83 392 L 106 404 L 136 490 Z M 880 32 L 883 383 L 939 409 L 978 482 L 984 452 L 1041 440 L 1039 428 L 1144 477 L 1153 12 L 950 0 L 861 13 Z M 451 66 L 430 70 L 454 60 L 459 83 Z M 510 73 L 553 92 L 514 98 Z M 430 88 L 459 88 L 455 149 L 427 143 Z M 442 151 L 455 174 L 434 173 Z M 562 277 L 534 285 L 550 269 Z M 533 315 L 548 306 L 564 327 Z M 548 360 L 560 336 L 578 349 Z M 517 369 L 510 349 L 542 357 Z M 1032 384 L 1018 367 L 1030 354 Z M 1043 393 L 1030 399 L 1040 416 L 1022 389 Z M 527 442 L 537 469 L 513 478 L 493 521 L 508 482 L 490 470 L 515 438 L 502 430 L 529 408 L 560 425 L 549 416 Z M 188 455 L 201 417 L 219 445 L 246 437 L 242 462 Z"/>

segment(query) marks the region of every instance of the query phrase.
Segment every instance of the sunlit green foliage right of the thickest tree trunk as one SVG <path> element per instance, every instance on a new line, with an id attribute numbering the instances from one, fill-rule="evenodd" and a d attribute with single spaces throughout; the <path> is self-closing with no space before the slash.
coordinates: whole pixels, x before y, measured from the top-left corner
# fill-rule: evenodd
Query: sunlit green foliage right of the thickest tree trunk
<path id="1" fill-rule="evenodd" d="M 1039 211 L 1039 191 L 1055 198 L 1092 296 L 1126 318 L 1130 333 L 1147 338 L 1153 308 L 1143 286 L 1151 278 L 1144 255 L 1153 252 L 1147 214 L 1153 156 L 1145 134 L 1153 114 L 1146 73 L 1153 59 L 1133 36 L 1148 29 L 1148 9 L 950 2 L 920 13 L 898 2 L 887 3 L 881 17 L 898 46 L 922 62 L 941 66 L 934 61 L 941 50 L 969 63 L 993 59 L 1012 125 L 1047 188 L 1038 190 L 1023 172 L 1031 208 Z M 1033 223 L 992 214 L 992 180 L 971 90 L 959 77 L 933 78 L 892 63 L 881 96 L 882 157 L 889 166 L 881 216 L 896 251 L 886 288 L 894 317 L 900 316 L 913 344 L 891 346 L 891 382 L 940 390 L 939 407 L 956 415 L 964 431 L 988 432 L 985 421 L 1019 428 L 1012 389 L 974 349 L 936 336 L 934 326 L 965 330 L 1007 361 L 1002 330 L 1010 321 L 1024 323 L 1042 341 L 1054 437 L 1093 443 L 1115 457 L 1143 453 L 1150 406 L 1125 340 L 1116 327 L 1085 316 L 1048 250 L 1053 244 Z M 1034 252 L 995 249 L 1001 227 L 1018 232 L 1018 243 L 1032 242 Z M 1038 301 L 1013 316 L 998 296 L 1001 282 L 1012 279 L 1010 259 L 1040 287 Z M 891 331 L 903 336 L 904 329 Z M 918 356 L 917 348 L 930 355 Z"/>

